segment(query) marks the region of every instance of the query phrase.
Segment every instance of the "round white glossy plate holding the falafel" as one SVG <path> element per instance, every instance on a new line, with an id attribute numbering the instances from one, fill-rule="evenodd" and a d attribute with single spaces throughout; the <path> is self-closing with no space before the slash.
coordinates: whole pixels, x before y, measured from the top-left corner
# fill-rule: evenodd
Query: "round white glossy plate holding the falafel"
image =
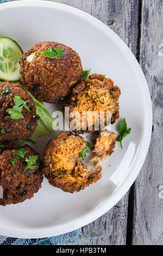
<path id="1" fill-rule="evenodd" d="M 94 17 L 67 5 L 43 1 L 17 1 L 0 5 L 0 33 L 27 50 L 39 41 L 62 42 L 76 50 L 84 69 L 106 74 L 121 88 L 120 115 L 131 133 L 116 144 L 103 162 L 102 179 L 79 193 L 65 193 L 44 179 L 31 200 L 0 208 L 0 234 L 47 237 L 67 233 L 96 220 L 129 190 L 148 151 L 152 106 L 139 63 L 124 42 Z M 52 112 L 58 105 L 46 105 Z M 118 121 L 117 121 L 118 123 Z M 112 131 L 116 131 L 116 125 Z M 54 136 L 56 136 L 54 132 Z M 42 156 L 49 137 L 34 147 Z"/>

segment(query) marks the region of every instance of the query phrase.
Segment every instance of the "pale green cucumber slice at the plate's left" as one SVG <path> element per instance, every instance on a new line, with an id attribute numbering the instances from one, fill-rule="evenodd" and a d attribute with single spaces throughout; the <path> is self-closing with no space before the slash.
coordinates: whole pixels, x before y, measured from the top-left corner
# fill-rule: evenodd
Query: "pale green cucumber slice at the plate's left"
<path id="1" fill-rule="evenodd" d="M 0 38 L 0 81 L 20 80 L 20 64 L 23 51 L 16 41 L 3 36 Z"/>

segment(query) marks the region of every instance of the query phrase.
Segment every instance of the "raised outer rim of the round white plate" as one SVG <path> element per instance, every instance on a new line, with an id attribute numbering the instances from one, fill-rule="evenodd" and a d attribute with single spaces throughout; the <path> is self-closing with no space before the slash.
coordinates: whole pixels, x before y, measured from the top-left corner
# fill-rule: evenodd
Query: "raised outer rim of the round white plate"
<path id="1" fill-rule="evenodd" d="M 143 74 L 143 71 L 141 69 L 140 64 L 137 62 L 134 54 L 130 51 L 129 47 L 124 43 L 124 41 L 114 32 L 112 31 L 108 26 L 106 26 L 103 22 L 99 21 L 95 17 L 91 16 L 90 14 L 85 13 L 82 10 L 79 10 L 74 7 L 70 7 L 69 5 L 61 4 L 61 3 L 55 3 L 50 1 L 13 1 L 13 2 L 7 2 L 0 4 L 0 11 L 4 9 L 10 9 L 10 8 L 17 8 L 17 7 L 26 7 L 26 6 L 38 6 L 38 7 L 51 7 L 54 9 L 61 9 L 68 11 L 69 13 L 77 14 L 83 19 L 88 19 L 89 22 L 93 22 L 94 25 L 100 27 L 105 33 L 108 33 L 112 36 L 112 39 L 116 40 L 116 44 L 119 44 L 121 50 L 123 47 L 123 52 L 126 56 L 129 56 L 132 59 L 132 63 L 134 66 L 136 66 L 136 71 L 140 75 L 140 80 L 143 81 L 142 90 L 144 92 L 144 111 L 145 111 L 145 123 L 143 126 L 143 136 L 141 140 L 141 145 L 139 150 L 137 150 L 137 155 L 135 156 L 134 162 L 132 163 L 133 166 L 130 169 L 129 174 L 127 175 L 126 179 L 122 182 L 122 184 L 117 188 L 117 190 L 111 194 L 111 196 L 103 202 L 101 206 L 98 206 L 98 208 L 91 210 L 89 213 L 83 215 L 83 217 L 78 218 L 78 222 L 76 220 L 51 227 L 51 228 L 37 228 L 37 229 L 9 229 L 0 227 L 0 234 L 3 236 L 11 236 L 16 238 L 28 238 L 28 239 L 37 239 L 37 238 L 43 238 L 43 237 L 49 237 L 49 236 L 55 236 L 55 235 L 61 235 L 68 233 L 70 231 L 73 231 L 75 229 L 84 227 L 84 225 L 87 225 L 93 221 L 95 221 L 97 218 L 104 215 L 107 211 L 109 211 L 115 204 L 119 202 L 119 200 L 124 197 L 124 195 L 127 193 L 131 185 L 134 183 L 135 179 L 137 178 L 137 175 L 140 173 L 140 170 L 143 166 L 143 163 L 145 162 L 149 144 L 151 142 L 151 135 L 152 135 L 152 102 L 151 102 L 151 95 L 149 93 L 148 84 L 145 78 L 145 75 Z"/>

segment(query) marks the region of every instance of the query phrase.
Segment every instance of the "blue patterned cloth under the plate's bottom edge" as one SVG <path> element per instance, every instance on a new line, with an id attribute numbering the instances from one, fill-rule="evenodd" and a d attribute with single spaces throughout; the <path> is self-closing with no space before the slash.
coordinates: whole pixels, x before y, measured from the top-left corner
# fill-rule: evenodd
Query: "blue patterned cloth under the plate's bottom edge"
<path id="1" fill-rule="evenodd" d="M 0 0 L 0 4 L 5 2 L 9 1 Z M 74 245 L 75 243 L 82 243 L 86 239 L 91 238 L 96 237 L 85 234 L 82 228 L 80 228 L 64 235 L 47 237 L 45 239 L 16 239 L 0 235 L 0 245 Z"/>

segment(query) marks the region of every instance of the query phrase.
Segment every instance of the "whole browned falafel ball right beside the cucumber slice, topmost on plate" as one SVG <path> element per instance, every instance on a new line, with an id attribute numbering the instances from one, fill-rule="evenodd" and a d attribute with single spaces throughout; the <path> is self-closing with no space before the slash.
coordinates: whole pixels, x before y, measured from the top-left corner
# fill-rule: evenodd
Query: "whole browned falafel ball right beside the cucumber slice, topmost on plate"
<path id="1" fill-rule="evenodd" d="M 40 52 L 48 48 L 63 50 L 62 57 L 48 58 Z M 20 62 L 21 81 L 39 100 L 56 103 L 65 99 L 82 78 L 82 63 L 78 53 L 59 42 L 45 41 L 24 52 Z"/>

